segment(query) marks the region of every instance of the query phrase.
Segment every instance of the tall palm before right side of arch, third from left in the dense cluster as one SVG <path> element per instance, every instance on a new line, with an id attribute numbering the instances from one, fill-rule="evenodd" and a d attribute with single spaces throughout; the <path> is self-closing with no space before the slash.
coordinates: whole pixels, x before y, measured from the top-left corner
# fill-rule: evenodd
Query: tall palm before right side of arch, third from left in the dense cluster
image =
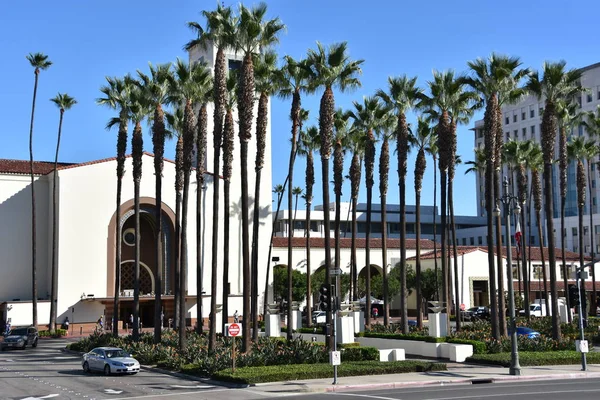
<path id="1" fill-rule="evenodd" d="M 156 243 L 155 243 L 155 262 L 156 275 L 154 278 L 154 343 L 160 343 L 162 326 L 162 274 L 163 274 L 163 231 L 162 231 L 162 171 L 163 157 L 165 153 L 165 115 L 162 108 L 163 104 L 168 102 L 169 81 L 171 78 L 171 64 L 148 64 L 150 68 L 150 76 L 141 71 L 138 74 L 138 86 L 142 91 L 145 100 L 151 105 L 149 110 L 152 114 L 152 145 L 154 152 L 154 178 L 156 190 Z"/>

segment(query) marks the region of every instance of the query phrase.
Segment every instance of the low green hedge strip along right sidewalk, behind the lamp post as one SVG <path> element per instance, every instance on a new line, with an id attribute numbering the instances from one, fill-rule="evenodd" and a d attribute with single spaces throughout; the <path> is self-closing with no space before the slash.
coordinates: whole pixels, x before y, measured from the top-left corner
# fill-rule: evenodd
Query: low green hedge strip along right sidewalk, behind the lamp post
<path id="1" fill-rule="evenodd" d="M 476 364 L 510 366 L 510 353 L 474 354 L 467 362 Z M 600 363 L 600 353 L 588 353 L 588 363 Z M 522 366 L 537 365 L 576 365 L 581 363 L 581 353 L 572 350 L 548 352 L 519 352 L 519 363 Z"/>

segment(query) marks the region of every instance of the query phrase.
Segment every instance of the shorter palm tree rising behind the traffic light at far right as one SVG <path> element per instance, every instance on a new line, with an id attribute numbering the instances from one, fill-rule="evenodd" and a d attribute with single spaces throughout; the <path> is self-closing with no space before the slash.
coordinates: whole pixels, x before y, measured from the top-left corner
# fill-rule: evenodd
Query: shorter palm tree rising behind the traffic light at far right
<path id="1" fill-rule="evenodd" d="M 596 143 L 593 140 L 586 141 L 582 137 L 572 137 L 571 141 L 567 144 L 567 156 L 570 160 L 577 161 L 577 211 L 579 216 L 579 265 L 583 265 L 584 260 L 584 247 L 583 247 L 583 212 L 585 207 L 585 191 L 586 191 L 586 178 L 585 178 L 585 167 L 583 162 L 598 152 Z M 592 210 L 590 209 L 590 214 Z M 591 235 L 591 232 L 590 232 Z M 592 304 L 596 304 L 592 302 Z M 590 307 L 594 308 L 594 307 Z M 580 318 L 587 318 L 587 310 L 582 310 L 584 316 Z"/>

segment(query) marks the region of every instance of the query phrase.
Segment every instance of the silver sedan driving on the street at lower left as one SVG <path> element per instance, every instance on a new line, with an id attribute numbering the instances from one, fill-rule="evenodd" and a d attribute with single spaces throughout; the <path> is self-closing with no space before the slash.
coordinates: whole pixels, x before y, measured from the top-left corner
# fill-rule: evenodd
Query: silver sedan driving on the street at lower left
<path id="1" fill-rule="evenodd" d="M 140 363 L 118 347 L 96 347 L 83 355 L 81 366 L 85 372 L 102 371 L 104 375 L 140 372 Z"/>

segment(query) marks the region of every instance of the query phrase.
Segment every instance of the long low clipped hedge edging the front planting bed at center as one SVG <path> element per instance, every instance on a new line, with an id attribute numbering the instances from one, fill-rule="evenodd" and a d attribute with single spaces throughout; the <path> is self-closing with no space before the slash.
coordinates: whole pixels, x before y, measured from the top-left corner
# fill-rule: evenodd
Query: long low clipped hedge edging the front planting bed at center
<path id="1" fill-rule="evenodd" d="M 193 366 L 184 366 L 186 373 L 194 373 Z M 362 361 L 342 363 L 338 376 L 382 375 L 422 371 L 445 371 L 446 364 L 424 361 Z M 271 365 L 239 368 L 235 373 L 226 369 L 214 374 L 213 379 L 226 382 L 256 384 L 298 379 L 333 378 L 333 368 L 329 364 Z"/>

